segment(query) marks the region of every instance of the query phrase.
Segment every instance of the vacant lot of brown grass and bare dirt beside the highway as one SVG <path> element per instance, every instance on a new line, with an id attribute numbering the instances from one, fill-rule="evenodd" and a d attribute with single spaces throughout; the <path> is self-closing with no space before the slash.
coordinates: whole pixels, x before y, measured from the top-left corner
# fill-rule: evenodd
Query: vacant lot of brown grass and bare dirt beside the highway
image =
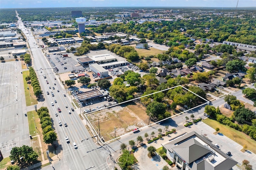
<path id="1" fill-rule="evenodd" d="M 88 115 L 94 127 L 98 127 L 100 122 L 100 132 L 105 141 L 148 125 L 148 115 L 146 108 L 140 104 L 127 104 L 122 106 L 104 109 Z"/>

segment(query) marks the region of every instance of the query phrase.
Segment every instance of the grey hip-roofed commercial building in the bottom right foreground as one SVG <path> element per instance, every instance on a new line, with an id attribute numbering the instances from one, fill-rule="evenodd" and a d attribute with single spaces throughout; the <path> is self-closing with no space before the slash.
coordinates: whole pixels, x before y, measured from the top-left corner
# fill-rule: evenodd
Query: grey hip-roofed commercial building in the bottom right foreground
<path id="1" fill-rule="evenodd" d="M 180 170 L 232 170 L 238 163 L 194 131 L 170 140 L 163 147 Z"/>

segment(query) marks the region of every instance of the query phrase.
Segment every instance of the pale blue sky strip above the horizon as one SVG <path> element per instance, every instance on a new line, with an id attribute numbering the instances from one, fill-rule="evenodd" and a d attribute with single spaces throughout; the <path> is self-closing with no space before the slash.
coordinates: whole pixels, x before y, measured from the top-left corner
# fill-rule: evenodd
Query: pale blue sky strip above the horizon
<path id="1" fill-rule="evenodd" d="M 236 7 L 237 0 L 0 0 L 0 8 L 56 7 Z M 238 7 L 256 7 L 256 0 L 239 0 Z"/>

